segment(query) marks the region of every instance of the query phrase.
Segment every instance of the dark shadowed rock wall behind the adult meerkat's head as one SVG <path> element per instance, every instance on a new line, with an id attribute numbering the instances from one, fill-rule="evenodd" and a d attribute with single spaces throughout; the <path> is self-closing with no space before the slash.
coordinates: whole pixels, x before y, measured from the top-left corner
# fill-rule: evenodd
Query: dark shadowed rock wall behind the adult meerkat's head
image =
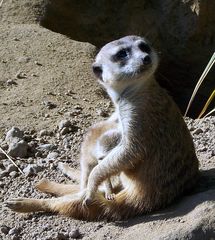
<path id="1" fill-rule="evenodd" d="M 209 0 L 11 0 L 1 10 L 3 22 L 40 22 L 97 47 L 128 34 L 146 36 L 160 53 L 157 79 L 182 112 L 214 52 L 215 2 Z M 215 88 L 214 74 L 212 69 L 190 116 L 197 116 Z"/>

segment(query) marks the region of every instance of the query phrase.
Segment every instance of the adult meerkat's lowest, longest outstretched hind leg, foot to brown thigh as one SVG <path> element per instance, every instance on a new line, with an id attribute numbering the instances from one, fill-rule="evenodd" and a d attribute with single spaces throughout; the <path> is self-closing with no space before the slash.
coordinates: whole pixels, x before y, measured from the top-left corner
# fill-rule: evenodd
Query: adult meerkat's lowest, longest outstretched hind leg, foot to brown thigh
<path id="1" fill-rule="evenodd" d="M 98 192 L 89 205 L 83 204 L 84 194 L 76 193 L 52 199 L 17 198 L 8 200 L 5 206 L 15 212 L 54 212 L 80 220 L 121 220 L 140 213 L 137 202 L 126 190 L 108 201 Z M 141 212 L 144 212 L 142 208 Z"/>

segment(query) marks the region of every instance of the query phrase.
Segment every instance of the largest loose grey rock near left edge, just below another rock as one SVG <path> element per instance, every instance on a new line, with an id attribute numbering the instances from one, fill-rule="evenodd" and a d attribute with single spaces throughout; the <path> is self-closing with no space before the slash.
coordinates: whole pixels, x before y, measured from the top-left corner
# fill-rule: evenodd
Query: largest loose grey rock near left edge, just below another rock
<path id="1" fill-rule="evenodd" d="M 24 158 L 27 156 L 28 144 L 24 140 L 13 141 L 9 144 L 8 154 L 11 157 Z"/>

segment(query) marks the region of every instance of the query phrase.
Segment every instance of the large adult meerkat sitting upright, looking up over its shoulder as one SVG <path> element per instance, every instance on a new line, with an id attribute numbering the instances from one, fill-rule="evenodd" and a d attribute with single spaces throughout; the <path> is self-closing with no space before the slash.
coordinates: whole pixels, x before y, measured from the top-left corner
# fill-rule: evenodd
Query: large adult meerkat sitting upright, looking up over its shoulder
<path id="1" fill-rule="evenodd" d="M 157 66 L 156 51 L 142 37 L 127 36 L 105 45 L 93 72 L 114 103 L 119 143 L 91 169 L 86 188 L 47 180 L 38 188 L 58 198 L 11 199 L 6 206 L 83 220 L 122 220 L 161 209 L 190 191 L 199 176 L 198 159 L 180 111 L 155 80 Z M 107 124 L 98 124 L 95 134 L 88 135 L 89 143 L 95 146 L 95 139 L 115 128 Z M 98 188 L 117 174 L 122 188 L 108 201 Z"/>

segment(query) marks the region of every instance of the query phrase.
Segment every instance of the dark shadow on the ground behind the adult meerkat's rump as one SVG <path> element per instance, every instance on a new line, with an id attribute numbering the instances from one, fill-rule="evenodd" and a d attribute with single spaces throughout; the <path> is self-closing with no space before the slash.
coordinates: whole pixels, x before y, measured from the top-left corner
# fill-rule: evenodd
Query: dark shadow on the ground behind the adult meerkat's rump
<path id="1" fill-rule="evenodd" d="M 200 173 L 200 179 L 196 188 L 180 199 L 177 199 L 169 207 L 127 221 L 115 222 L 115 224 L 127 228 L 140 223 L 182 217 L 203 202 L 215 201 L 215 168 L 204 170 Z"/>

